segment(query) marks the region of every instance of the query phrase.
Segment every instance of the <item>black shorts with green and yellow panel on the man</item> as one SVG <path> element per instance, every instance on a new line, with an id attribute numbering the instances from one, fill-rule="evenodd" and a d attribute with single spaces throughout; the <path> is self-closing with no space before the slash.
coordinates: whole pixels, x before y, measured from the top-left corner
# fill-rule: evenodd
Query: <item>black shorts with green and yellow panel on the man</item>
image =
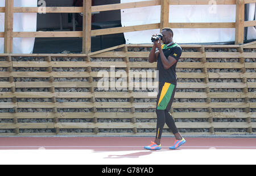
<path id="1" fill-rule="evenodd" d="M 156 109 L 170 110 L 174 101 L 175 90 L 175 84 L 159 82 Z"/>

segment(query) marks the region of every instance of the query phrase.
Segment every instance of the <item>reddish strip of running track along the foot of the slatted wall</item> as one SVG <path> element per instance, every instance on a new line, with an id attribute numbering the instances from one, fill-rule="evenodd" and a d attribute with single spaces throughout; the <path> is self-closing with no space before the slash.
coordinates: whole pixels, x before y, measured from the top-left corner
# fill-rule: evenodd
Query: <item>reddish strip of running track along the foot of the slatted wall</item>
<path id="1" fill-rule="evenodd" d="M 135 151 L 150 144 L 152 137 L 0 137 L 0 149 L 93 149 Z M 162 149 L 174 144 L 162 138 Z M 256 149 L 256 138 L 185 138 L 179 149 Z"/>

